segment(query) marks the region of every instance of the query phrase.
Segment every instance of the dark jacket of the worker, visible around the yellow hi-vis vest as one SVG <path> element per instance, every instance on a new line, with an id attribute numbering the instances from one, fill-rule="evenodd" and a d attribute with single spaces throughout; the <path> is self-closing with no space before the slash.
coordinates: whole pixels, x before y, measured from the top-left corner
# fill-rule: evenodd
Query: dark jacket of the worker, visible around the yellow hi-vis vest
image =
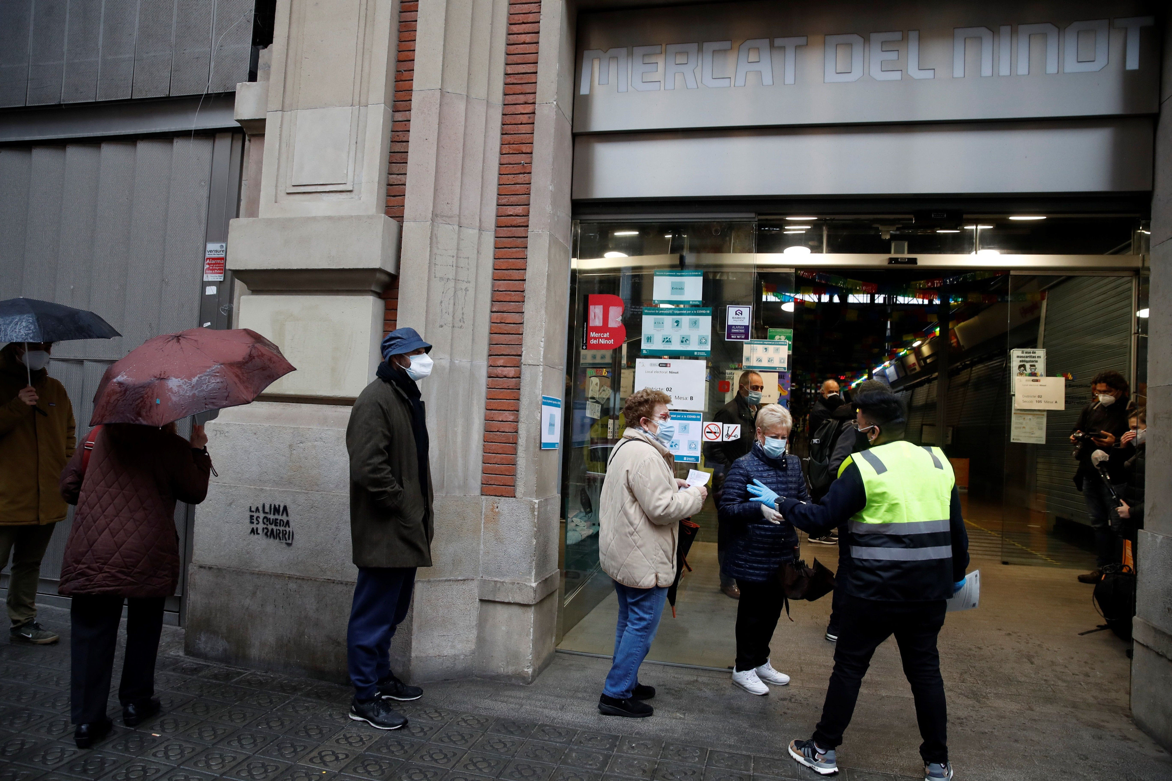
<path id="1" fill-rule="evenodd" d="M 866 507 L 867 493 L 863 475 L 853 463 L 831 484 L 820 505 L 797 499 L 778 499 L 778 509 L 793 526 L 812 536 L 822 536 L 834 527 L 844 526 L 852 515 Z M 948 518 L 947 544 L 950 559 L 928 561 L 885 561 L 854 559 L 851 555 L 853 533 L 844 528 L 838 535 L 838 573 L 834 580 L 844 594 L 864 600 L 885 602 L 920 602 L 947 600 L 953 595 L 953 583 L 965 577 L 968 568 L 968 533 L 961 516 L 960 493 L 953 486 Z M 924 519 L 934 520 L 934 519 Z M 946 544 L 941 541 L 940 544 Z"/>

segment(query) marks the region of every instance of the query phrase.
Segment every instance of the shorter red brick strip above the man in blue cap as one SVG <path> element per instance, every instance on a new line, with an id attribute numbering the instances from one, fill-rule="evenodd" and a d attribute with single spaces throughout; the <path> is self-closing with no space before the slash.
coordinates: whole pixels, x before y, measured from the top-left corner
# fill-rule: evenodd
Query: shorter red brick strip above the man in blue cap
<path id="1" fill-rule="evenodd" d="M 403 221 L 403 200 L 407 193 L 407 146 L 411 136 L 411 89 L 415 85 L 415 27 L 418 0 L 403 0 L 398 7 L 398 52 L 395 66 L 395 96 L 390 107 L 390 160 L 387 171 L 387 215 Z M 396 275 L 382 299 L 387 311 L 382 320 L 383 334 L 398 327 L 398 276 Z"/>

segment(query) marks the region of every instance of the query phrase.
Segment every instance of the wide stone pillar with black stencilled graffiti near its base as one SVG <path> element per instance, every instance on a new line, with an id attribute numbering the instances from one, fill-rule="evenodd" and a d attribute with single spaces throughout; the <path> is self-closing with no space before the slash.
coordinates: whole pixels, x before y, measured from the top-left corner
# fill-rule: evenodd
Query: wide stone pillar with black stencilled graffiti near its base
<path id="1" fill-rule="evenodd" d="M 229 231 L 227 266 L 246 286 L 234 324 L 298 371 L 207 426 L 220 477 L 195 527 L 196 656 L 345 679 L 356 574 L 345 432 L 374 378 L 379 293 L 398 260 L 384 213 L 397 16 L 397 0 L 278 0 L 267 90 L 238 95 L 264 143 L 244 212 L 255 215 Z"/>

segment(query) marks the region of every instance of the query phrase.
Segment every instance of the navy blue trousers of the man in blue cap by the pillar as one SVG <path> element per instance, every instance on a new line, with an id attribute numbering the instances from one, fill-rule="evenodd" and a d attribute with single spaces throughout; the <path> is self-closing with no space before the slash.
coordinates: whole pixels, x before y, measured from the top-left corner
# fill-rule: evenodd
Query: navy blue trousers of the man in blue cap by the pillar
<path id="1" fill-rule="evenodd" d="M 346 662 L 359 700 L 379 697 L 379 681 L 390 677 L 390 638 L 407 617 L 414 588 L 414 567 L 359 567 L 346 631 Z"/>

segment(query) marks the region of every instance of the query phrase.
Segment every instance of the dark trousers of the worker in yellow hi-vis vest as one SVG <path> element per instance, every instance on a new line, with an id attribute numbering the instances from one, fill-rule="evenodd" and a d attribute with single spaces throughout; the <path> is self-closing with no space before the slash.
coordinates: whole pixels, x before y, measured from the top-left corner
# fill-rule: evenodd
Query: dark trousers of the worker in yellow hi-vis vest
<path id="1" fill-rule="evenodd" d="M 854 713 L 871 656 L 880 643 L 894 635 L 904 674 L 915 698 L 915 720 L 924 738 L 920 756 L 925 762 L 947 762 L 948 711 L 936 650 L 936 636 L 945 624 L 945 601 L 875 602 L 844 595 L 841 608 L 834 671 L 830 674 L 815 741 L 823 748 L 837 748 L 843 744 L 843 732 Z"/>

